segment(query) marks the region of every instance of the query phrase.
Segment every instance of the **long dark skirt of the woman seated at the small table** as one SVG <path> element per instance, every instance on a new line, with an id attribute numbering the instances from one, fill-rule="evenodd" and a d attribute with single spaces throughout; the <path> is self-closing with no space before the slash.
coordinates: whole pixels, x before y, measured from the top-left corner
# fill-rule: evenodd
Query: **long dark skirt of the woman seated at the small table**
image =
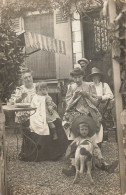
<path id="1" fill-rule="evenodd" d="M 67 136 L 62 127 L 62 122 L 57 119 L 55 122 L 58 135 L 57 140 L 53 140 L 53 135 L 38 135 L 30 132 L 29 121 L 22 125 L 23 142 L 19 159 L 23 161 L 56 161 L 66 151 L 68 146 Z"/>

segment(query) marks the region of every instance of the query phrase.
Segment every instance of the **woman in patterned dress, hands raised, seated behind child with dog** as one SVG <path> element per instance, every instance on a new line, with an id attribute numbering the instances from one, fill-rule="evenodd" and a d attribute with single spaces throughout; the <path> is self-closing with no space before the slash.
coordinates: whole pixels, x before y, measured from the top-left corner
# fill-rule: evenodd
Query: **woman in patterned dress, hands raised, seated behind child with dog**
<path id="1" fill-rule="evenodd" d="M 80 68 L 75 68 L 71 72 L 74 79 L 74 84 L 66 94 L 66 113 L 64 114 L 64 128 L 69 140 L 74 140 L 75 136 L 68 130 L 71 128 L 73 121 L 81 115 L 88 115 L 97 123 L 96 132 L 100 131 L 101 114 L 96 108 L 96 98 L 90 91 L 90 83 L 83 81 L 83 71 Z"/>

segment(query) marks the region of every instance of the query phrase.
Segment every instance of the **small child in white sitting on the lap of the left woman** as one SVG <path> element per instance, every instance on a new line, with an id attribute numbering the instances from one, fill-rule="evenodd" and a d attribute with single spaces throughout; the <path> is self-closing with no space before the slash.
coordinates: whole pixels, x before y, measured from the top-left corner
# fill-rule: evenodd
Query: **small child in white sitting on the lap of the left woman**
<path id="1" fill-rule="evenodd" d="M 44 132 L 45 130 L 47 130 L 47 128 L 45 128 L 46 126 L 45 122 L 47 122 L 51 130 L 53 140 L 58 139 L 56 128 L 53 122 L 60 117 L 55 110 L 56 104 L 52 101 L 52 98 L 48 95 L 46 83 L 39 82 L 36 84 L 36 95 L 33 97 L 31 106 L 37 108 L 36 110 L 37 116 L 35 117 L 34 114 L 30 117 L 31 129 L 36 133 L 38 131 L 41 132 L 43 130 L 43 132 L 41 132 L 41 135 L 46 135 Z"/>

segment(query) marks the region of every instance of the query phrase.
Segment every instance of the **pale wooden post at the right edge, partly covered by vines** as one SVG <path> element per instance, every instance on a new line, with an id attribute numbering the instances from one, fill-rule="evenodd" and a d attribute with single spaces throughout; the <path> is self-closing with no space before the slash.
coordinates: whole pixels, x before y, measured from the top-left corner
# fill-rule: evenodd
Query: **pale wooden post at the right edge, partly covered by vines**
<path id="1" fill-rule="evenodd" d="M 116 4 L 114 0 L 108 1 L 109 7 L 109 19 L 110 23 L 113 23 L 116 17 Z M 119 32 L 116 34 L 119 36 Z M 120 164 L 120 179 L 121 179 L 121 191 L 122 195 L 126 193 L 126 178 L 125 178 L 125 158 L 124 158 L 124 150 L 123 150 L 123 134 L 122 134 L 122 126 L 120 124 L 120 113 L 123 110 L 122 107 L 122 97 L 119 93 L 119 89 L 121 86 L 120 79 L 120 64 L 113 59 L 115 56 L 115 49 L 112 47 L 112 67 L 113 67 L 113 77 L 114 77 L 114 92 L 115 92 L 115 107 L 116 107 L 116 120 L 117 120 L 117 137 L 118 137 L 118 146 L 119 146 L 119 164 Z"/>

